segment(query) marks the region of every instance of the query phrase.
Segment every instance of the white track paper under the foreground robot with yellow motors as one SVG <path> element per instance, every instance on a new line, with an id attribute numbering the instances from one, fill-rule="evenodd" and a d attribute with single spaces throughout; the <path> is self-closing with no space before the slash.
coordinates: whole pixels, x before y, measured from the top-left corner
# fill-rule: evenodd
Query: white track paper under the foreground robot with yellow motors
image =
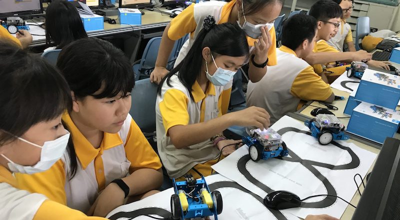
<path id="1" fill-rule="evenodd" d="M 288 219 L 298 220 L 298 217 L 289 213 L 288 211 L 274 211 L 270 212 L 257 197 L 242 191 L 241 186 L 220 174 L 215 174 L 205 177 L 208 186 L 218 187 L 217 190 L 222 195 L 223 209 L 222 213 L 218 215 L 218 219 L 231 220 L 231 219 L 248 219 L 248 220 L 265 220 L 265 219 Z M 215 183 L 215 185 L 213 185 Z M 225 185 L 219 187 L 218 185 Z M 157 194 L 151 195 L 140 201 L 130 204 L 125 204 L 112 210 L 106 216 L 109 219 L 122 220 L 130 219 L 137 216 L 139 212 L 145 214 L 153 214 L 154 217 L 168 217 L 170 212 L 170 197 L 173 194 L 173 189 L 169 188 Z M 255 196 L 255 197 L 254 197 Z M 156 212 L 164 213 L 165 216 L 155 215 Z M 137 216 L 133 219 L 153 219 L 147 216 Z M 214 219 L 213 216 L 210 219 Z"/>

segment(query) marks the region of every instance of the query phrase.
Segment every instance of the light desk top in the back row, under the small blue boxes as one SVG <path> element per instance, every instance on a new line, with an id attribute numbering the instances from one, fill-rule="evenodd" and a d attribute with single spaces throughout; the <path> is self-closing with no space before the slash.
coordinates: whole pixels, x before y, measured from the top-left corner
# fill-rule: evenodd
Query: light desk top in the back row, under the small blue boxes
<path id="1" fill-rule="evenodd" d="M 141 15 L 141 25 L 119 24 L 119 19 L 117 19 L 118 16 L 109 16 L 109 17 L 115 19 L 116 24 L 109 24 L 108 22 L 104 22 L 103 30 L 88 31 L 87 35 L 104 36 L 104 35 L 124 33 L 134 30 L 165 27 L 168 24 L 168 22 L 172 19 L 169 17 L 169 15 L 161 14 L 159 11 L 156 10 L 154 11 L 144 10 L 144 14 Z M 44 30 L 42 34 L 44 34 Z M 45 44 L 45 38 L 43 36 L 40 39 L 33 40 L 30 46 L 39 46 L 44 44 Z"/>

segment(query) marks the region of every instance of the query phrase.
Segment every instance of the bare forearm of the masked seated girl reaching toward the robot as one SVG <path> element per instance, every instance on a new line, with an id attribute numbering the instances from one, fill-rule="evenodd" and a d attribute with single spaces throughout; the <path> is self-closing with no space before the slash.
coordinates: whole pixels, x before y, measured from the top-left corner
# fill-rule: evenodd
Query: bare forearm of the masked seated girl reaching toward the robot
<path id="1" fill-rule="evenodd" d="M 168 134 L 177 149 L 184 148 L 209 139 L 233 125 L 229 115 L 231 113 L 205 122 L 172 126 L 169 128 Z"/>

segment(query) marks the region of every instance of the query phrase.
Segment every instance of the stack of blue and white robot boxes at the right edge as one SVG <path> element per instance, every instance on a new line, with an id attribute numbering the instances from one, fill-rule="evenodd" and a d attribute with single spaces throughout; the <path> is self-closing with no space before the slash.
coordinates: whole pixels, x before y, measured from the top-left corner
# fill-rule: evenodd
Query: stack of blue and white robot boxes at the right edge
<path id="1" fill-rule="evenodd" d="M 347 132 L 383 143 L 398 129 L 400 112 L 395 108 L 399 100 L 399 76 L 366 69 L 344 109 L 351 115 Z"/>

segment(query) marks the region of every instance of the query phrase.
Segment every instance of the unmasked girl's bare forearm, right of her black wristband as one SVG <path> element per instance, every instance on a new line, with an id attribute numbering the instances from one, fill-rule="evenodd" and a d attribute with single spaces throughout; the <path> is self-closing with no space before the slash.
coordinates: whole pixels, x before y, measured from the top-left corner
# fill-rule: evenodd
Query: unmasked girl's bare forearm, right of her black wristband
<path id="1" fill-rule="evenodd" d="M 152 189 L 157 189 L 162 184 L 162 170 L 141 168 L 122 178 L 129 186 L 129 196 L 143 194 Z"/>

